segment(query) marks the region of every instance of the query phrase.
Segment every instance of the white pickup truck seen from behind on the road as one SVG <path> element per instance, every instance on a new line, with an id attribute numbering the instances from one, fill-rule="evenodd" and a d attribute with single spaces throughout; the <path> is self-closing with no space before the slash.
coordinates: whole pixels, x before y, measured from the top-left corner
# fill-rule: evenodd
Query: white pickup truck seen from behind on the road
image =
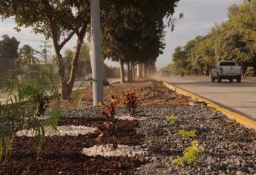
<path id="1" fill-rule="evenodd" d="M 233 79 L 237 79 L 237 82 L 241 82 L 241 67 L 237 66 L 234 61 L 220 61 L 217 62 L 213 70 L 211 70 L 211 82 L 221 82 L 222 79 L 229 79 L 229 82 L 233 82 Z"/>

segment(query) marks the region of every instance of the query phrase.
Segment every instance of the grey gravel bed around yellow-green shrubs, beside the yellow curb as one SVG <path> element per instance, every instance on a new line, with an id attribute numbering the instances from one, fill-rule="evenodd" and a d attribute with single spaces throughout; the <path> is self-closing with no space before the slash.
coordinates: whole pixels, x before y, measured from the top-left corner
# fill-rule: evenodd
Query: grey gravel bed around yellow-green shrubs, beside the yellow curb
<path id="1" fill-rule="evenodd" d="M 174 114 L 177 122 L 166 122 Z M 142 145 L 148 148 L 148 164 L 137 168 L 136 174 L 256 174 L 255 131 L 244 128 L 222 113 L 204 106 L 140 108 L 137 133 L 145 135 Z M 193 139 L 183 139 L 179 130 L 196 130 Z M 196 139 L 203 152 L 196 166 L 175 165 L 191 141 Z"/>

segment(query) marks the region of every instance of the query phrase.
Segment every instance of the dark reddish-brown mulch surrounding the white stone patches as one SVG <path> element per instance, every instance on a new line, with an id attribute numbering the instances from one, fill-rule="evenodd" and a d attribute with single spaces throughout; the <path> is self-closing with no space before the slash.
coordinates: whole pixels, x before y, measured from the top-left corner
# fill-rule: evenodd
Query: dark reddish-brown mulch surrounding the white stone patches
<path id="1" fill-rule="evenodd" d="M 59 125 L 102 126 L 101 118 L 64 118 Z M 139 122 L 120 121 L 117 139 L 122 145 L 141 145 L 142 135 L 137 134 Z M 142 159 L 82 155 L 83 148 L 93 145 L 112 143 L 109 131 L 104 132 L 102 139 L 96 133 L 86 136 L 53 136 L 47 137 L 42 147 L 42 156 L 36 156 L 37 142 L 27 136 L 15 137 L 13 152 L 9 161 L 0 166 L 0 174 L 134 174 L 136 167 L 143 163 Z"/>

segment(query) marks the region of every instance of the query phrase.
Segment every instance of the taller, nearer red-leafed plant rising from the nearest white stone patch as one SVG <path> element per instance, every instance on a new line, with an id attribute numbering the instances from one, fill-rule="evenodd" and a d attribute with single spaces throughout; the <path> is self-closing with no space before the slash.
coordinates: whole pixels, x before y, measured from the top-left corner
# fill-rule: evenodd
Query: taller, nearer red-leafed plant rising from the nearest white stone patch
<path id="1" fill-rule="evenodd" d="M 118 117 L 116 116 L 116 110 L 119 103 L 120 100 L 114 98 L 114 96 L 111 96 L 111 104 L 109 106 L 104 103 L 99 103 L 99 108 L 105 109 L 105 111 L 102 111 L 102 117 L 106 120 L 107 129 L 111 131 L 111 135 L 113 136 L 114 149 L 117 148 L 116 131 L 118 127 Z"/>

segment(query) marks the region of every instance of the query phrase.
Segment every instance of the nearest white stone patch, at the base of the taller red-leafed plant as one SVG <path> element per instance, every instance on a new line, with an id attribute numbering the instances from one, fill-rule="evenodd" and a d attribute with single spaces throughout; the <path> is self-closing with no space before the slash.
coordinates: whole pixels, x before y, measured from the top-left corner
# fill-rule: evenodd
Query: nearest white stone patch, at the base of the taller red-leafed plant
<path id="1" fill-rule="evenodd" d="M 94 145 L 91 148 L 84 148 L 83 154 L 87 156 L 137 156 L 145 155 L 145 150 L 140 146 L 126 146 L 118 145 L 118 148 L 112 150 L 110 146 L 107 145 Z"/>

